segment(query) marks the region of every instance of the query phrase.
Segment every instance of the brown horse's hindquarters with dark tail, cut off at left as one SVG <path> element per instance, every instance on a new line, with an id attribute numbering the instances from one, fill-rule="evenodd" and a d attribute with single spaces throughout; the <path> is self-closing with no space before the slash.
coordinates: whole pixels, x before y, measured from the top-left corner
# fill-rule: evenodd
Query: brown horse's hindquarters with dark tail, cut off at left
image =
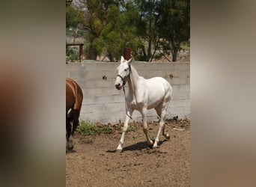
<path id="1" fill-rule="evenodd" d="M 79 125 L 79 114 L 82 107 L 82 89 L 70 78 L 66 78 L 66 130 L 67 150 L 73 150 L 73 136 Z M 71 125 L 73 123 L 73 125 Z"/>

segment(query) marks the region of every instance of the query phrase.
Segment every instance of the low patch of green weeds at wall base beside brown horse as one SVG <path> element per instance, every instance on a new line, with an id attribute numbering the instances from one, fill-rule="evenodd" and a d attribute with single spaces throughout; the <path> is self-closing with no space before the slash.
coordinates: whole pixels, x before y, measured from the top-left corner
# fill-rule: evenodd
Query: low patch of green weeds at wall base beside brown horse
<path id="1" fill-rule="evenodd" d="M 82 121 L 77 128 L 77 131 L 81 135 L 98 135 L 98 134 L 110 134 L 112 129 L 109 126 L 97 126 L 94 123 Z"/>

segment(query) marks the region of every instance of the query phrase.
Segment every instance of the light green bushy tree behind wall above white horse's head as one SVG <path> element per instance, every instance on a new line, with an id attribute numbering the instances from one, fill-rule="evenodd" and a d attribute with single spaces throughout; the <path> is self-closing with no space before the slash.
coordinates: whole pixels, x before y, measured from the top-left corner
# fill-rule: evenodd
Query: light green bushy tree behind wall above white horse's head
<path id="1" fill-rule="evenodd" d="M 124 48 L 132 49 L 132 52 L 142 46 L 137 37 L 137 25 L 140 16 L 138 10 L 127 1 L 124 7 L 112 4 L 107 11 L 107 24 L 103 28 L 100 37 L 94 40 L 97 52 L 106 52 L 110 61 L 119 60 Z"/>

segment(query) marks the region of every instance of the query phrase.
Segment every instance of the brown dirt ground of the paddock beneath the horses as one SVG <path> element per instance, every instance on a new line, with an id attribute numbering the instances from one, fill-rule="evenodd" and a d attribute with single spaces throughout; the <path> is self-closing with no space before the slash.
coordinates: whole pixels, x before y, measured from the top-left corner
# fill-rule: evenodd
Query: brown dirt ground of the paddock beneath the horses
<path id="1" fill-rule="evenodd" d="M 74 150 L 66 154 L 66 186 L 190 186 L 190 121 L 168 120 L 167 141 L 161 135 L 159 148 L 147 146 L 141 123 L 124 137 L 124 150 L 115 149 L 121 130 L 112 134 L 82 136 L 77 132 Z M 148 123 L 150 138 L 156 138 L 158 123 Z"/>

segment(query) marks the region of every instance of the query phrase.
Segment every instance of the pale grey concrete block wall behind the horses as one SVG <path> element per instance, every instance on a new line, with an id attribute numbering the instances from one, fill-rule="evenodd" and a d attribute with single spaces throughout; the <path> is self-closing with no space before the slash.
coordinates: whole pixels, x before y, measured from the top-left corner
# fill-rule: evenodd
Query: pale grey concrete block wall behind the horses
<path id="1" fill-rule="evenodd" d="M 66 76 L 78 82 L 84 93 L 80 120 L 100 123 L 119 123 L 125 119 L 123 90 L 115 89 L 118 63 L 87 61 L 66 65 Z M 173 95 L 168 106 L 167 118 L 190 114 L 190 63 L 148 63 L 132 61 L 132 65 L 145 79 L 162 76 L 170 82 Z M 126 90 L 127 90 L 126 85 Z M 141 120 L 141 114 L 134 111 L 132 119 Z M 148 120 L 157 120 L 156 111 L 151 109 Z"/>

